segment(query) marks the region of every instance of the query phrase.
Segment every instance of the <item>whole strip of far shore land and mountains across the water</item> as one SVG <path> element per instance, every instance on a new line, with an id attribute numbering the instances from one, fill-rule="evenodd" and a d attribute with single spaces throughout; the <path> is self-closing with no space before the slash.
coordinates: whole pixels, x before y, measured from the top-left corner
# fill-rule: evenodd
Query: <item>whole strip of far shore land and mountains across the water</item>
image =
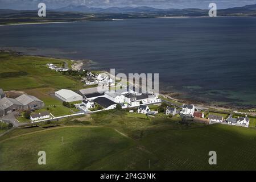
<path id="1" fill-rule="evenodd" d="M 153 7 L 109 7 L 106 9 L 69 5 L 60 9 L 47 9 L 47 17 L 38 17 L 38 10 L 0 9 L 0 24 L 27 22 L 101 21 L 164 16 L 208 16 L 208 9 L 155 9 Z M 217 16 L 256 16 L 256 4 L 217 10 Z"/>

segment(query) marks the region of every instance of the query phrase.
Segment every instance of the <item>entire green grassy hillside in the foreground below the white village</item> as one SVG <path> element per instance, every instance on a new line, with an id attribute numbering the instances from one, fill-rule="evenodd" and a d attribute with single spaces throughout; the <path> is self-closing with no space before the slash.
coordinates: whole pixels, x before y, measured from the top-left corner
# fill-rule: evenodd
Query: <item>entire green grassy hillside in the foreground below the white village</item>
<path id="1" fill-rule="evenodd" d="M 51 122 L 59 126 L 49 129 L 41 123 L 10 131 L 0 137 L 0 169 L 256 169 L 255 129 L 132 114 L 103 111 Z M 46 151 L 46 165 L 38 165 L 39 151 Z M 216 166 L 208 163 L 209 151 L 217 152 Z"/>

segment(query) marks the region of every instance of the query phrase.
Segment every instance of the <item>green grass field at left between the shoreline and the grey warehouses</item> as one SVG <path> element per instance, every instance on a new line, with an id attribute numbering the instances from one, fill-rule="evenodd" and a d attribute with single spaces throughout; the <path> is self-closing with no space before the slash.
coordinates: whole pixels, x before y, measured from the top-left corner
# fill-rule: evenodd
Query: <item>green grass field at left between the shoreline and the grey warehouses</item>
<path id="1" fill-rule="evenodd" d="M 47 63 L 63 64 L 64 62 L 71 64 L 69 60 L 18 56 L 15 53 L 0 52 L 0 74 L 5 73 L 5 77 L 0 75 L 0 88 L 3 90 L 23 90 L 39 87 L 75 90 L 82 88 L 81 82 L 63 76 L 60 72 L 52 71 L 46 66 Z M 20 72 L 25 74 L 19 76 Z"/>

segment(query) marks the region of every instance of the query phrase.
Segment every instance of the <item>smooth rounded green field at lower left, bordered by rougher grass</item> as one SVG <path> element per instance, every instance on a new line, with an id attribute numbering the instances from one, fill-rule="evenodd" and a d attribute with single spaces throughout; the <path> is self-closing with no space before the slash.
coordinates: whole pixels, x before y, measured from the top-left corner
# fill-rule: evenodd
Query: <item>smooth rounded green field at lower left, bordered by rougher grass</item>
<path id="1" fill-rule="evenodd" d="M 61 137 L 64 138 L 63 144 Z M 132 145 L 131 139 L 104 127 L 48 130 L 0 143 L 1 154 L 4 154 L 1 156 L 0 169 L 79 170 Z M 46 166 L 38 165 L 39 151 L 46 151 Z"/>

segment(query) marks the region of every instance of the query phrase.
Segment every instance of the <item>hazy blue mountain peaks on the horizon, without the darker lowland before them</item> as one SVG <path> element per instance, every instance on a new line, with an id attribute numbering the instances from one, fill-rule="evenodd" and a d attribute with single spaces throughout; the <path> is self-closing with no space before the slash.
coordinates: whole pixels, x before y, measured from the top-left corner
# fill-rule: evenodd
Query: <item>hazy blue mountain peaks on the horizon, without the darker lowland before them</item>
<path id="1" fill-rule="evenodd" d="M 59 9 L 54 9 L 55 11 L 61 12 L 79 12 L 79 13 L 167 13 L 167 14 L 195 14 L 202 15 L 208 13 L 208 9 L 155 9 L 154 7 L 139 6 L 139 7 L 109 7 L 106 9 L 96 8 L 96 7 L 87 7 L 87 6 L 74 6 L 69 5 L 67 7 L 62 7 Z M 218 12 L 219 11 L 219 12 Z M 246 5 L 243 7 L 234 7 L 229 9 L 218 10 L 217 12 L 225 15 L 228 14 L 256 14 L 256 4 L 255 5 Z"/>

